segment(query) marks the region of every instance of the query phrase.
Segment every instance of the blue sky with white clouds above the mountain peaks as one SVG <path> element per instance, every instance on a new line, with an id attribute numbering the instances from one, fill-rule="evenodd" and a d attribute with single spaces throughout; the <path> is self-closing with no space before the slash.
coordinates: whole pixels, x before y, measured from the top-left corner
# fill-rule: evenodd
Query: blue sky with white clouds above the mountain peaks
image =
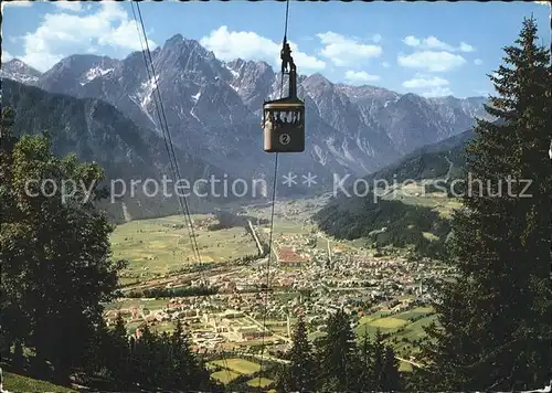
<path id="1" fill-rule="evenodd" d="M 128 2 L 3 6 L 2 61 L 40 71 L 74 53 L 123 59 L 139 50 Z M 151 46 L 180 33 L 223 60 L 264 60 L 279 68 L 285 2 L 141 2 Z M 549 7 L 531 2 L 296 2 L 288 40 L 301 74 L 399 93 L 467 97 L 492 93 L 486 74 L 500 64 L 523 17 L 550 43 Z M 277 68 L 277 70 L 278 70 Z"/>

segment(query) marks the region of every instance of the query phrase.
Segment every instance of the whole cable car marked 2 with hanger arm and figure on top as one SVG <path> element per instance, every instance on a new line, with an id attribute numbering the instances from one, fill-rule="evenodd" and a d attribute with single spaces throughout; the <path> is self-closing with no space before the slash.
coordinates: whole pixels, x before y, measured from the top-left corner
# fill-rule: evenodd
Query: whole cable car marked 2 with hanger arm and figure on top
<path id="1" fill-rule="evenodd" d="M 297 98 L 297 68 L 291 49 L 284 39 L 280 52 L 282 77 L 289 75 L 288 96 L 263 104 L 263 149 L 266 152 L 305 151 L 305 103 Z M 287 66 L 289 65 L 289 72 Z"/>

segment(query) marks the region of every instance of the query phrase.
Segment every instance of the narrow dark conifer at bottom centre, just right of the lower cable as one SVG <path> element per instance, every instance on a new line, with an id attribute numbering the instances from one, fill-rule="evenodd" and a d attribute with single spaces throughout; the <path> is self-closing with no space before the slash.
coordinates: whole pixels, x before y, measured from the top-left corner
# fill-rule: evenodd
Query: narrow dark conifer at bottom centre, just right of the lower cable
<path id="1" fill-rule="evenodd" d="M 302 316 L 299 316 L 297 321 L 287 359 L 291 363 L 282 370 L 278 389 L 284 392 L 312 391 L 316 381 L 316 364 Z"/>

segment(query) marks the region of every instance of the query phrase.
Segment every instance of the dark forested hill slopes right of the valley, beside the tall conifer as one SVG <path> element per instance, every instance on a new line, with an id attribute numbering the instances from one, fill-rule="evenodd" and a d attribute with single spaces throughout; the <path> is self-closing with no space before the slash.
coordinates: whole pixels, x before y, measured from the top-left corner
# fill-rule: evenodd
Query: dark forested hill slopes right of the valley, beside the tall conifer
<path id="1" fill-rule="evenodd" d="M 432 180 L 439 180 L 445 185 L 465 174 L 465 148 L 475 136 L 473 130 L 467 130 L 416 149 L 365 177 L 365 183 L 372 188 L 381 184 L 380 180 L 389 184 L 424 180 L 427 182 L 426 191 L 432 192 L 427 189 Z M 455 191 L 458 189 L 455 188 Z M 442 200 L 434 199 L 432 202 L 428 199 L 427 202 L 429 204 L 403 203 L 393 198 L 375 200 L 372 193 L 363 194 L 363 190 L 355 195 L 354 188 L 350 188 L 347 193 L 330 198 L 314 220 L 321 230 L 338 238 L 362 237 L 369 247 L 413 246 L 420 255 L 438 256 L 450 234 L 450 222 L 435 209 Z"/>

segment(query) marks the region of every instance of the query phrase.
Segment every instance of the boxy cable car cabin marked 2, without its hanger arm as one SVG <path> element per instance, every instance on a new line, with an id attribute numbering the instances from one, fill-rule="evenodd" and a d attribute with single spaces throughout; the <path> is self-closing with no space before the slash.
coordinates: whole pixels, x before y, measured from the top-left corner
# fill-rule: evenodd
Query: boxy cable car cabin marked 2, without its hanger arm
<path id="1" fill-rule="evenodd" d="M 263 131 L 266 152 L 305 151 L 305 104 L 289 97 L 266 102 Z"/>

